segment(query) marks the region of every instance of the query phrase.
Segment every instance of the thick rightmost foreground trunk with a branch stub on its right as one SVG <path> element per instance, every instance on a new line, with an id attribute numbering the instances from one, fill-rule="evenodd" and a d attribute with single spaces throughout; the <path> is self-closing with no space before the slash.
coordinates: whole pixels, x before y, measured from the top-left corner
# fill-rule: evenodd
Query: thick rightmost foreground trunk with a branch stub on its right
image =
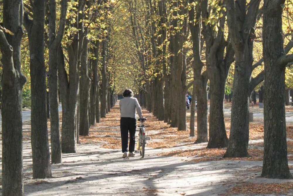
<path id="1" fill-rule="evenodd" d="M 283 1 L 264 1 L 263 58 L 264 84 L 264 156 L 262 177 L 292 178 L 288 167 L 285 119 L 285 66 L 282 11 Z M 292 56 L 292 54 L 291 54 Z"/>

